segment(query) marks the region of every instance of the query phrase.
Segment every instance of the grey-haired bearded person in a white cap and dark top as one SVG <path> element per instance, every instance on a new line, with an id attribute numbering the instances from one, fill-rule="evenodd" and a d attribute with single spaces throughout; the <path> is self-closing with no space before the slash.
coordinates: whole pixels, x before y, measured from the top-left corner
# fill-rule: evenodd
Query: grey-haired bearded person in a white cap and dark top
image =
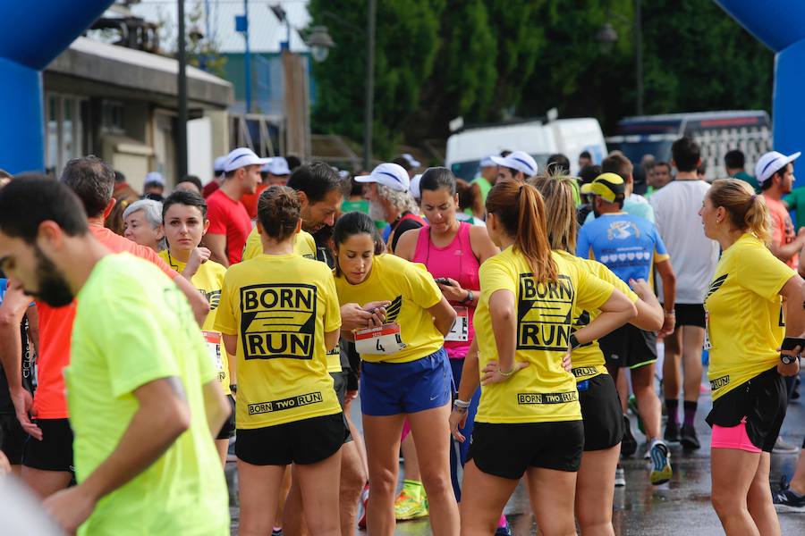
<path id="1" fill-rule="evenodd" d="M 369 184 L 365 197 L 369 201 L 372 219 L 390 222 L 388 234 L 384 230 L 383 239 L 392 252 L 402 233 L 425 225 L 409 192 L 411 178 L 401 165 L 381 163 L 369 175 L 355 177 L 355 181 Z"/>

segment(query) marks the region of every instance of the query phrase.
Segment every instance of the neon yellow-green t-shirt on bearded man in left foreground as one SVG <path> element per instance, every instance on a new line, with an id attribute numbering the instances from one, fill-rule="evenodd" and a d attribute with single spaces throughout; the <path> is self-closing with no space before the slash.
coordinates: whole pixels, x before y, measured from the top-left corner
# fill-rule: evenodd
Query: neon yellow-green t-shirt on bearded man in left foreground
<path id="1" fill-rule="evenodd" d="M 187 299 L 154 264 L 126 253 L 101 259 L 77 298 L 64 377 L 78 482 L 116 448 L 138 409 L 134 390 L 177 377 L 191 413 L 190 429 L 102 498 L 79 534 L 228 535 L 224 471 L 202 394 L 216 371 Z"/>

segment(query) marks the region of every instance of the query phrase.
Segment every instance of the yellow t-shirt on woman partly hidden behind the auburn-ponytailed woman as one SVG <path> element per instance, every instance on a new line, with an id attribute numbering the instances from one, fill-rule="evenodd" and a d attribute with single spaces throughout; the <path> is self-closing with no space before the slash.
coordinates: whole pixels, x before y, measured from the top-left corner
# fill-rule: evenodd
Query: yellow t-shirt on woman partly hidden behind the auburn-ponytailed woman
<path id="1" fill-rule="evenodd" d="M 590 259 L 582 259 L 564 251 L 557 251 L 556 253 L 562 255 L 568 261 L 579 263 L 581 267 L 595 275 L 598 279 L 610 283 L 615 289 L 620 290 L 626 297 L 631 299 L 631 303 L 636 303 L 637 300 L 640 299 L 638 295 L 629 288 L 629 285 L 621 281 L 621 279 L 604 264 Z M 597 318 L 598 314 L 601 314 L 601 311 L 598 309 L 588 311 L 577 304 L 577 306 L 573 307 L 572 331 L 578 331 L 588 325 L 589 322 Z M 597 339 L 573 350 L 572 362 L 572 373 L 576 377 L 576 381 L 589 380 L 598 374 L 607 373 L 604 354 L 601 352 L 601 347 L 598 346 Z"/>

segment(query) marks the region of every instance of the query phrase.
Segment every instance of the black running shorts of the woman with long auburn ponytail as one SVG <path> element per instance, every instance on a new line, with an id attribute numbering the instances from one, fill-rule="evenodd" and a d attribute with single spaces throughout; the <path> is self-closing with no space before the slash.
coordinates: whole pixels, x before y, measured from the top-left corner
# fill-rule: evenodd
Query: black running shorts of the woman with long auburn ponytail
<path id="1" fill-rule="evenodd" d="M 529 467 L 579 471 L 584 447 L 581 421 L 559 423 L 475 423 L 470 437 L 472 460 L 484 473 L 519 479 Z"/>

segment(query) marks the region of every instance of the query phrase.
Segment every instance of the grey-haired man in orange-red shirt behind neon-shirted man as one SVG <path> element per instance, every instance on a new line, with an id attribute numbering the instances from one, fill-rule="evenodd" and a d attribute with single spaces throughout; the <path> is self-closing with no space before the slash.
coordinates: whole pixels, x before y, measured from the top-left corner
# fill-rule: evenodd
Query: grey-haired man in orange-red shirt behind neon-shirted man
<path id="1" fill-rule="evenodd" d="M 88 215 L 89 232 L 113 253 L 128 252 L 157 264 L 182 290 L 191 304 L 199 325 L 209 312 L 207 299 L 191 282 L 171 270 L 157 253 L 114 234 L 104 227 L 104 219 L 114 207 L 114 171 L 108 163 L 94 155 L 74 158 L 64 166 L 62 181 L 79 197 Z M 47 498 L 66 488 L 73 478 L 72 429 L 68 421 L 65 398 L 64 368 L 70 364 L 72 322 L 75 300 L 66 306 L 49 306 L 37 300 L 39 315 L 39 348 L 37 391 L 34 398 L 23 389 L 19 357 L 6 363 L 5 371 L 17 419 L 31 439 L 25 443 L 22 456 L 22 480 L 40 497 Z M 35 417 L 35 421 L 31 421 Z"/>

